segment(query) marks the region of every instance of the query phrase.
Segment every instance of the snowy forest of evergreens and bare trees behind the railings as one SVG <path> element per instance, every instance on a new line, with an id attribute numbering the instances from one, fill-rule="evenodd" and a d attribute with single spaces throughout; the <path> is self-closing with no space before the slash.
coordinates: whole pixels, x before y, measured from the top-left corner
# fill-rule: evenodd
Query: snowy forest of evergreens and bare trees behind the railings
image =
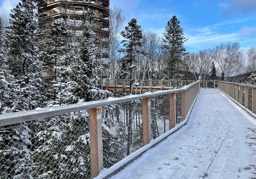
<path id="1" fill-rule="evenodd" d="M 134 94 L 140 80 L 222 80 L 256 84 L 256 47 L 239 42 L 189 52 L 176 16 L 166 22 L 163 37 L 143 29 L 136 19 L 124 24 L 122 9 L 110 9 L 109 38 L 95 33 L 97 17 L 87 11 L 82 31 L 63 20 L 37 14 L 46 5 L 20 0 L 9 16 L 0 18 L 1 114 Z M 51 22 L 51 23 L 49 23 Z M 103 66 L 101 42 L 108 42 Z M 45 71 L 53 74 L 44 78 Z M 99 75 L 100 73 L 100 75 Z M 101 79 L 128 80 L 130 91 L 103 90 Z M 169 130 L 169 98 L 152 98 L 152 138 Z M 180 94 L 177 94 L 177 123 Z M 141 101 L 102 108 L 104 167 L 108 168 L 142 146 Z M 0 127 L 0 179 L 90 178 L 88 111 Z"/>

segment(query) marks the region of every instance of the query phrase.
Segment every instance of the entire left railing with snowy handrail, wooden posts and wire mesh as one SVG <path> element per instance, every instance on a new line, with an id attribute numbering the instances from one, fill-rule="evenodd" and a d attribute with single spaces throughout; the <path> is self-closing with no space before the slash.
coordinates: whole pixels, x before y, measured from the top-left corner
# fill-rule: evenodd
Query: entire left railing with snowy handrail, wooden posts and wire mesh
<path id="1" fill-rule="evenodd" d="M 103 168 L 110 176 L 185 125 L 199 90 L 197 81 L 180 89 L 2 114 L 0 178 L 89 179 Z"/>

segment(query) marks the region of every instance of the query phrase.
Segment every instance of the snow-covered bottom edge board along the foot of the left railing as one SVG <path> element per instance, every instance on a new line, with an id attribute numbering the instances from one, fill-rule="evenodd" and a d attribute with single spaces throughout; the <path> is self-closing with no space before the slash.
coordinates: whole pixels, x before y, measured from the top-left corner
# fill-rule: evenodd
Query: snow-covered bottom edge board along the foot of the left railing
<path id="1" fill-rule="evenodd" d="M 197 99 L 198 95 L 199 95 L 199 93 L 197 93 L 196 98 L 195 98 L 193 104 L 191 105 L 191 107 L 190 107 L 190 109 L 188 111 L 188 115 L 187 115 L 186 119 L 183 122 L 181 122 L 180 124 L 176 124 L 175 128 L 172 128 L 168 132 L 164 133 L 162 136 L 159 136 L 156 139 L 150 140 L 149 144 L 141 147 L 137 151 L 133 152 L 132 154 L 130 154 L 129 156 L 124 158 L 123 160 L 117 162 L 112 167 L 110 167 L 110 168 L 103 168 L 100 171 L 100 174 L 97 177 L 95 177 L 94 179 L 108 179 L 111 176 L 117 174 L 119 171 L 123 170 L 125 167 L 127 167 L 129 164 L 131 164 L 134 160 L 138 159 L 142 154 L 147 152 L 149 149 L 155 147 L 157 144 L 159 144 L 160 142 L 164 141 L 167 137 L 171 136 L 173 133 L 175 133 L 180 128 L 185 126 L 187 124 L 187 122 L 188 122 L 189 115 L 190 115 L 190 113 L 191 113 L 191 111 L 192 111 L 192 109 L 193 109 L 193 107 L 195 105 L 195 102 L 196 102 L 196 99 Z"/>

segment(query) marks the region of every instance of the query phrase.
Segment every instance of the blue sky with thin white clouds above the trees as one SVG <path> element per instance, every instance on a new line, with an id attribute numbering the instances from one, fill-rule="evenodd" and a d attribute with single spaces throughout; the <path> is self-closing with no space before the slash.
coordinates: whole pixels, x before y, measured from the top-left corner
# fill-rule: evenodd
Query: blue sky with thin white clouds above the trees
<path id="1" fill-rule="evenodd" d="M 0 0 L 0 12 L 10 13 L 18 2 Z M 236 41 L 244 50 L 256 45 L 256 0 L 110 0 L 110 6 L 124 10 L 125 24 L 136 18 L 143 29 L 161 36 L 176 15 L 188 38 L 188 51 Z"/>

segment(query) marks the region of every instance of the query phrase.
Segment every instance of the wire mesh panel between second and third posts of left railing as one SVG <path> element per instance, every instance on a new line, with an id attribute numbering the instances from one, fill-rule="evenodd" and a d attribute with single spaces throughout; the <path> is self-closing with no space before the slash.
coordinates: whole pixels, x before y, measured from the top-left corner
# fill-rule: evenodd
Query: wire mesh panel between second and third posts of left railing
<path id="1" fill-rule="evenodd" d="M 151 98 L 151 136 L 153 139 L 170 129 L 170 95 Z"/>

